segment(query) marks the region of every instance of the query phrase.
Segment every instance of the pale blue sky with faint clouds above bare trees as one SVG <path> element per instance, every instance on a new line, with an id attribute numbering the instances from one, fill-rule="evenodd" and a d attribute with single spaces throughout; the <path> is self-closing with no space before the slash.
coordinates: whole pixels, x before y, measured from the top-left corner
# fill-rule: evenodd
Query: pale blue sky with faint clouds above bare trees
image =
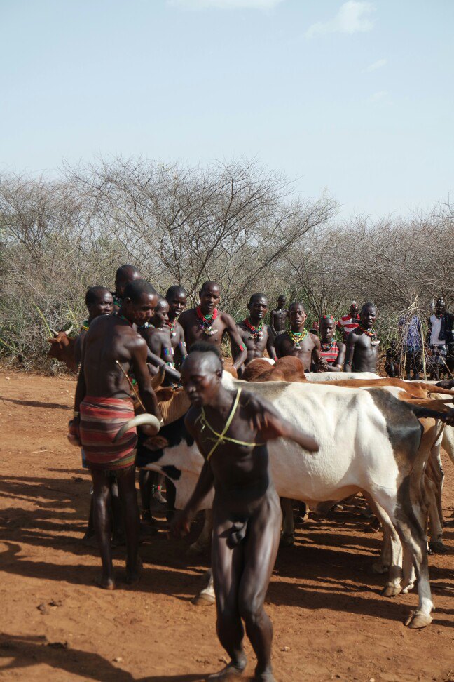
<path id="1" fill-rule="evenodd" d="M 0 0 L 0 170 L 255 158 L 351 213 L 454 191 L 452 0 Z"/>

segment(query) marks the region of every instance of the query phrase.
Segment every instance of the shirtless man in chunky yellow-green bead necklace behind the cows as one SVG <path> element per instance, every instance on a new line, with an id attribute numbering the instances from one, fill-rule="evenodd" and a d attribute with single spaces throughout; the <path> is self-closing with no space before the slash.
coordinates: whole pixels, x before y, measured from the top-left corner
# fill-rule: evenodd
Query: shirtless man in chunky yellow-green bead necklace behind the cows
<path id="1" fill-rule="evenodd" d="M 302 303 L 294 302 L 289 305 L 290 330 L 283 332 L 275 338 L 275 349 L 278 358 L 293 355 L 299 358 L 304 365 L 305 372 L 310 372 L 313 362 L 315 370 L 327 368 L 328 363 L 321 356 L 319 337 L 311 334 L 304 328 L 306 320 L 305 309 Z"/>

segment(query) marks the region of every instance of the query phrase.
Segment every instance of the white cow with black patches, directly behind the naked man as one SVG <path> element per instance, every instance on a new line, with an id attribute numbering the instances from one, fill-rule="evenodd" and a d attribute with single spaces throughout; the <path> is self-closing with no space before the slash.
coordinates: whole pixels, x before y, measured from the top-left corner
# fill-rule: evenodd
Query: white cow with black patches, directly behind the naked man
<path id="1" fill-rule="evenodd" d="M 390 535 L 388 592 L 411 587 L 415 569 L 418 609 L 406 624 L 424 627 L 432 621 L 433 605 L 424 533 L 427 505 L 422 486 L 435 422 L 425 422 L 424 434 L 414 411 L 382 389 L 348 389 L 310 382 L 246 383 L 224 374 L 224 385 L 266 397 L 289 421 L 301 425 L 319 442 L 319 452 L 305 453 L 289 441 L 268 444 L 277 493 L 281 497 L 335 504 L 362 492 Z M 391 391 L 392 392 L 392 391 Z M 399 395 L 400 389 L 394 389 Z M 203 458 L 188 436 L 182 419 L 163 427 L 158 449 L 146 468 L 170 476 L 177 487 L 177 508 L 191 495 Z M 163 438 L 167 446 L 163 447 Z M 152 441 L 153 439 L 151 439 Z M 208 496 L 203 508 L 211 507 Z M 401 584 L 401 566 L 404 582 Z"/>

